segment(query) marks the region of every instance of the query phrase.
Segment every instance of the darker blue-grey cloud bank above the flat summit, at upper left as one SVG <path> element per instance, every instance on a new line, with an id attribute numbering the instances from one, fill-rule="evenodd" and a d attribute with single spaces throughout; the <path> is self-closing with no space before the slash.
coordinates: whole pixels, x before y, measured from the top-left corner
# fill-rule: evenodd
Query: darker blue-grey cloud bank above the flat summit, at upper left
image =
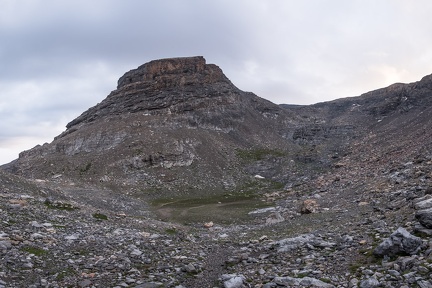
<path id="1" fill-rule="evenodd" d="M 42 13 L 47 8 L 43 5 L 39 9 L 34 7 L 36 16 L 23 19 L 26 24 L 0 32 L 0 37 L 8 39 L 2 41 L 5 44 L 0 57 L 4 67 L 9 68 L 8 71 L 1 69 L 1 76 L 67 73 L 78 61 L 94 58 L 140 65 L 142 63 L 137 60 L 148 61 L 161 55 L 217 54 L 221 46 L 234 53 L 234 40 L 241 42 L 242 36 L 235 33 L 241 27 L 232 23 L 234 17 L 214 14 L 211 6 L 216 5 L 201 4 L 191 8 L 178 1 L 108 3 L 114 6 L 106 9 L 107 15 L 96 20 L 82 18 L 77 13 L 81 11 L 78 6 L 71 7 L 71 11 L 61 9 L 63 15 Z M 59 5 L 50 9 L 56 6 Z"/>

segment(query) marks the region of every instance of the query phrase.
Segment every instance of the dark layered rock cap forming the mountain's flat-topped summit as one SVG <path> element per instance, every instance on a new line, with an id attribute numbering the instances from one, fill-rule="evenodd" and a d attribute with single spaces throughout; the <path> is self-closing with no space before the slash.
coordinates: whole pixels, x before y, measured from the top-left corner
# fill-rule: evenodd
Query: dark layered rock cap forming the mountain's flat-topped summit
<path id="1" fill-rule="evenodd" d="M 154 60 L 126 72 L 116 90 L 66 127 L 107 115 L 182 113 L 224 105 L 238 93 L 222 70 L 202 56 Z"/>

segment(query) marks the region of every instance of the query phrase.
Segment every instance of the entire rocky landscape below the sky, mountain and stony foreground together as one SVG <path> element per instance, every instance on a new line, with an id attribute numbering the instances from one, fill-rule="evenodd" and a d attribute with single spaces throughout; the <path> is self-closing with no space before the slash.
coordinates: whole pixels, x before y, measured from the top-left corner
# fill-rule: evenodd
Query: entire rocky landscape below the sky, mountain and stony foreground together
<path id="1" fill-rule="evenodd" d="M 432 287 L 432 75 L 276 105 L 155 60 L 0 170 L 0 287 Z"/>

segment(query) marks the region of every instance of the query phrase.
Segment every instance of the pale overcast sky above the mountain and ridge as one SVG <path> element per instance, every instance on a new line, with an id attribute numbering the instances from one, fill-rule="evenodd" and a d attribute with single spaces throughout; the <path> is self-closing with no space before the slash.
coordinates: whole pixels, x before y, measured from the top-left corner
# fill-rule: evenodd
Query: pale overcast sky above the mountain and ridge
<path id="1" fill-rule="evenodd" d="M 0 164 L 154 59 L 202 55 L 277 104 L 420 80 L 431 11 L 430 0 L 0 0 Z"/>

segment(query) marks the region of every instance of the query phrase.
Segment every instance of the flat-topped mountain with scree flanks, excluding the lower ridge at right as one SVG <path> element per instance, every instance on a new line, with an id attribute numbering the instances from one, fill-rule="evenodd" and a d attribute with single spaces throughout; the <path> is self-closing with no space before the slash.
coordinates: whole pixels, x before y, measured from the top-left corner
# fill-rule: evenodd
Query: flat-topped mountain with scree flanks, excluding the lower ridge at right
<path id="1" fill-rule="evenodd" d="M 202 57 L 163 59 L 127 72 L 52 143 L 6 167 L 27 177 L 61 174 L 167 195 L 229 190 L 253 179 L 238 169 L 242 151 L 274 158 L 301 150 L 284 135 L 297 122 L 289 111 L 236 88 Z"/>

